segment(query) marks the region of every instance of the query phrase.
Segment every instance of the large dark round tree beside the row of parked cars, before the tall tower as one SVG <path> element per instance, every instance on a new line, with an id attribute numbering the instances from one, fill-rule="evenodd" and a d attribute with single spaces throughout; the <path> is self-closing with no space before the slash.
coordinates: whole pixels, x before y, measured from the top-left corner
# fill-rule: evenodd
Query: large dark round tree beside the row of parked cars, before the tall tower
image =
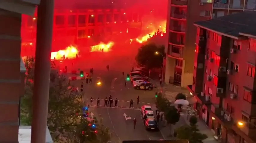
<path id="1" fill-rule="evenodd" d="M 161 68 L 163 63 L 163 58 L 160 54 L 156 55 L 156 52 L 161 53 L 165 56 L 164 46 L 156 46 L 153 43 L 142 45 L 138 49 L 138 53 L 135 60 L 139 65 L 143 65 L 148 69 Z"/>

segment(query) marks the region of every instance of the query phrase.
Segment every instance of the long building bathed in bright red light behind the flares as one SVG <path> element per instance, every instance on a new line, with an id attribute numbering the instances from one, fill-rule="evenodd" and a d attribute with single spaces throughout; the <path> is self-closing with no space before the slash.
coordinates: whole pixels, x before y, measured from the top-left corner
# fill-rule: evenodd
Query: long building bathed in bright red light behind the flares
<path id="1" fill-rule="evenodd" d="M 89 52 L 89 46 L 100 42 L 108 43 L 136 38 L 141 32 L 141 15 L 125 9 L 124 6 L 106 5 L 107 2 L 95 7 L 90 2 L 80 0 L 73 1 L 73 4 L 69 2 L 70 5 L 63 5 L 60 1 L 56 1 L 52 51 L 65 49 L 73 44 L 80 52 Z M 34 17 L 22 15 L 22 55 L 34 53 L 36 15 L 36 13 Z"/>

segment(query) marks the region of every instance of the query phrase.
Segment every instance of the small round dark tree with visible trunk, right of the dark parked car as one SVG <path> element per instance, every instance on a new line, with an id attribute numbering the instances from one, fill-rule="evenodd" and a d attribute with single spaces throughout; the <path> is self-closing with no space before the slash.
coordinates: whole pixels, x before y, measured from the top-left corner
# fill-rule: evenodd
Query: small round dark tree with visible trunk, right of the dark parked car
<path id="1" fill-rule="evenodd" d="M 174 106 L 170 106 L 167 111 L 164 112 L 165 120 L 167 124 L 170 124 L 170 134 L 172 131 L 172 125 L 175 125 L 180 120 L 180 113 Z"/>

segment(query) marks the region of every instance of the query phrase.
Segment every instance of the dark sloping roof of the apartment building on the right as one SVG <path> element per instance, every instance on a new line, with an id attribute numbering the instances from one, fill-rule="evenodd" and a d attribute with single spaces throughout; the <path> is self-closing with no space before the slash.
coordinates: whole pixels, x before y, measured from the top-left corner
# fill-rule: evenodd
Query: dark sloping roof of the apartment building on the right
<path id="1" fill-rule="evenodd" d="M 255 37 L 256 11 L 240 12 L 207 21 L 197 21 L 196 26 L 210 29 L 228 37 Z"/>

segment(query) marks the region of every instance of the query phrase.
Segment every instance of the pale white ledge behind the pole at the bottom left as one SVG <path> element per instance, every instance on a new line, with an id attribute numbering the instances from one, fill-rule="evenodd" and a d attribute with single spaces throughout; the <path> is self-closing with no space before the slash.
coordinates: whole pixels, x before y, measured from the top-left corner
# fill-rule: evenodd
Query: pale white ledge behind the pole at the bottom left
<path id="1" fill-rule="evenodd" d="M 19 143 L 31 143 L 31 126 L 19 126 Z M 53 143 L 48 128 L 46 128 L 46 143 Z"/>

